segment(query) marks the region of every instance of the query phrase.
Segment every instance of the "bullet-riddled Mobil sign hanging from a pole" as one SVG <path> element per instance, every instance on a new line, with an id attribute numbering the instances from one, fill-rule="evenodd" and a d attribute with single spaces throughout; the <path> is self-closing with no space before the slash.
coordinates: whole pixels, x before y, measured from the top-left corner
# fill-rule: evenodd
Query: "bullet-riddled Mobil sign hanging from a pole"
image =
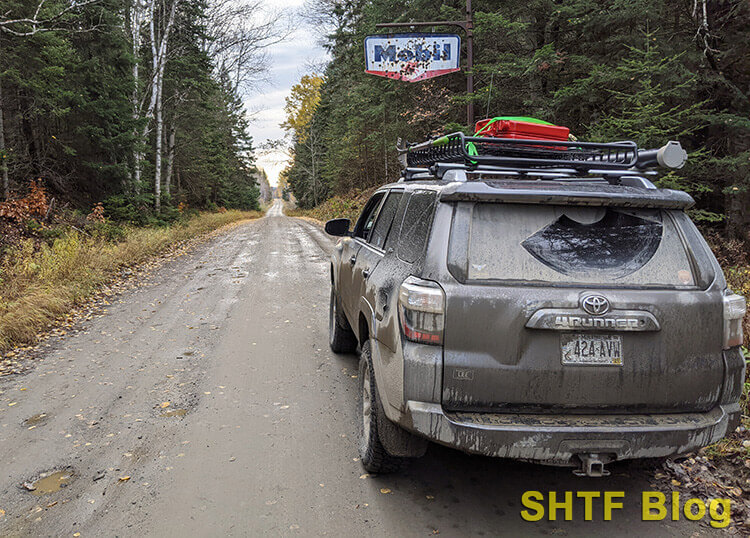
<path id="1" fill-rule="evenodd" d="M 365 38 L 365 73 L 417 82 L 459 70 L 455 34 L 398 34 Z"/>

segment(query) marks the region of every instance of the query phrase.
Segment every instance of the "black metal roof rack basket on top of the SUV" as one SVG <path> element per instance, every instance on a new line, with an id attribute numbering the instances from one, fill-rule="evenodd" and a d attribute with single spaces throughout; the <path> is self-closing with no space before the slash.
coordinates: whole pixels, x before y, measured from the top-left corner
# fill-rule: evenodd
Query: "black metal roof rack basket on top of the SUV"
<path id="1" fill-rule="evenodd" d="M 448 170 L 527 176 L 536 179 L 576 178 L 589 174 L 608 177 L 642 174 L 658 167 L 681 168 L 687 152 L 670 141 L 653 150 L 639 149 L 635 142 L 609 143 L 522 140 L 466 136 L 451 133 L 397 149 L 405 179 L 432 174 L 442 178 Z"/>

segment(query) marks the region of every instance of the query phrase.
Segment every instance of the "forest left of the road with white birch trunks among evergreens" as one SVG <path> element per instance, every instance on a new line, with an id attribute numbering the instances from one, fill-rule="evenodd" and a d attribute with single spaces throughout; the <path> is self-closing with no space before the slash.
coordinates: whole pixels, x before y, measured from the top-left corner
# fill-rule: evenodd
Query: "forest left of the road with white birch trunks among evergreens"
<path id="1" fill-rule="evenodd" d="M 148 223 L 258 208 L 243 92 L 283 38 L 255 0 L 3 0 L 0 176 Z"/>

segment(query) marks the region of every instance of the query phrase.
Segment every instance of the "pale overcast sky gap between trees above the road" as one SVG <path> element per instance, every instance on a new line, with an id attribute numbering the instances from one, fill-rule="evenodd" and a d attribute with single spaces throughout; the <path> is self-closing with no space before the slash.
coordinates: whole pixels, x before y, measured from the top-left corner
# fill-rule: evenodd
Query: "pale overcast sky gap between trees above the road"
<path id="1" fill-rule="evenodd" d="M 279 3 L 265 1 L 271 9 L 278 8 Z M 291 14 L 303 3 L 304 0 L 284 0 L 285 12 Z M 256 148 L 267 140 L 284 136 L 284 130 L 279 127 L 284 121 L 284 98 L 303 75 L 311 72 L 312 65 L 326 60 L 326 53 L 318 40 L 318 35 L 309 27 L 300 25 L 288 39 L 273 45 L 268 51 L 270 81 L 245 99 L 245 107 L 253 118 L 250 134 Z M 281 152 L 258 156 L 257 164 L 266 171 L 272 185 L 276 184 L 279 172 L 286 166 L 285 159 Z"/>

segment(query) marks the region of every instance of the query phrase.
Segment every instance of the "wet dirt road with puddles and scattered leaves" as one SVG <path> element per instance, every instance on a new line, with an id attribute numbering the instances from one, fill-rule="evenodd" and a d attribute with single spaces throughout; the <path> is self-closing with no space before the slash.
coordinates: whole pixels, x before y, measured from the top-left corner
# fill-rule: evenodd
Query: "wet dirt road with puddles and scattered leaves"
<path id="1" fill-rule="evenodd" d="M 685 535 L 642 522 L 650 474 L 608 479 L 433 446 L 356 461 L 357 360 L 327 345 L 328 252 L 281 213 L 169 262 L 28 373 L 0 380 L 0 535 Z M 41 473 L 63 471 L 20 487 Z M 55 489 L 59 476 L 70 476 Z M 126 478 L 129 477 L 129 478 Z M 624 491 L 613 521 L 523 521 L 527 489 Z M 0 512 L 2 513 L 2 512 Z M 558 519 L 562 518 L 560 514 Z"/>

